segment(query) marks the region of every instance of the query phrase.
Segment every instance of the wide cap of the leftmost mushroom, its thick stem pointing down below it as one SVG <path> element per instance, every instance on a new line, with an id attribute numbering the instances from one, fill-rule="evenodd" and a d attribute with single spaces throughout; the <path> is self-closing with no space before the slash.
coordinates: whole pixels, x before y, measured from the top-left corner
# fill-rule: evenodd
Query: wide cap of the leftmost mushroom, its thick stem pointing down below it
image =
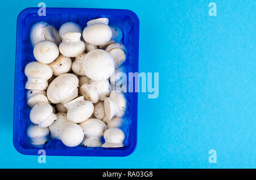
<path id="1" fill-rule="evenodd" d="M 52 68 L 49 65 L 33 61 L 26 65 L 24 73 L 28 78 L 48 80 L 52 77 Z"/>

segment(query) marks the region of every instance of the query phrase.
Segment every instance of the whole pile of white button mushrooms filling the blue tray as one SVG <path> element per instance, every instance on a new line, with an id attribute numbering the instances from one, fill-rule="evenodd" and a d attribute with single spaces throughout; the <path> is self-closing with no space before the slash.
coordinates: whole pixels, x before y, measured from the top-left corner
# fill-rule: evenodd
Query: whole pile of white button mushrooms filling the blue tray
<path id="1" fill-rule="evenodd" d="M 46 22 L 32 26 L 36 61 L 24 69 L 32 145 L 57 139 L 68 147 L 124 146 L 126 96 L 114 88 L 123 85 L 118 72 L 126 72 L 126 48 L 121 29 L 108 23 L 93 19 L 83 31 L 75 22 L 59 31 Z"/>

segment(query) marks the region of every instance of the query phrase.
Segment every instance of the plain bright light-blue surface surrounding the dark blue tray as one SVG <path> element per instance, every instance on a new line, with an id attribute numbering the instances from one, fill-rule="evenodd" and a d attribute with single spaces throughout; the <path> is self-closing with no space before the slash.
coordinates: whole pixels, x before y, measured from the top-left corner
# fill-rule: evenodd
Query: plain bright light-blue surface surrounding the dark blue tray
<path id="1" fill-rule="evenodd" d="M 256 168 L 256 11 L 251 1 L 44 1 L 126 8 L 140 20 L 139 71 L 159 72 L 159 97 L 139 93 L 138 145 L 127 157 L 38 156 L 13 146 L 16 18 L 40 1 L 2 0 L 0 168 Z M 217 16 L 209 16 L 215 2 Z M 210 149 L 217 163 L 210 164 Z"/>

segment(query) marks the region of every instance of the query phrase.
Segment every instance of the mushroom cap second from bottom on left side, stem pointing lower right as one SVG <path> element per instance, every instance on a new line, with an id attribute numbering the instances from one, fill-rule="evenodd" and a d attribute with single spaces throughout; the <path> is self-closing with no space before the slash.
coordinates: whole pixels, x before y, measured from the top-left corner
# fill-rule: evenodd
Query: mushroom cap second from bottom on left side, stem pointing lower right
<path id="1" fill-rule="evenodd" d="M 32 123 L 40 124 L 50 118 L 52 114 L 52 106 L 46 102 L 40 102 L 31 109 L 30 120 Z"/>

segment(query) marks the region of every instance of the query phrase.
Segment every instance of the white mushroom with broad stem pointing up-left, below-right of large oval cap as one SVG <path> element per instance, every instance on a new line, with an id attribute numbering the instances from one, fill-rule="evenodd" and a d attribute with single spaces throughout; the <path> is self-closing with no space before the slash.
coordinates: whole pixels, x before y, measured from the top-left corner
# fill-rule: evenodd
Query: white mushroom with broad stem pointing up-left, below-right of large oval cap
<path id="1" fill-rule="evenodd" d="M 80 123 L 88 119 L 93 114 L 93 104 L 90 101 L 85 101 L 84 96 L 80 96 L 64 104 L 68 109 L 68 121 Z"/>

